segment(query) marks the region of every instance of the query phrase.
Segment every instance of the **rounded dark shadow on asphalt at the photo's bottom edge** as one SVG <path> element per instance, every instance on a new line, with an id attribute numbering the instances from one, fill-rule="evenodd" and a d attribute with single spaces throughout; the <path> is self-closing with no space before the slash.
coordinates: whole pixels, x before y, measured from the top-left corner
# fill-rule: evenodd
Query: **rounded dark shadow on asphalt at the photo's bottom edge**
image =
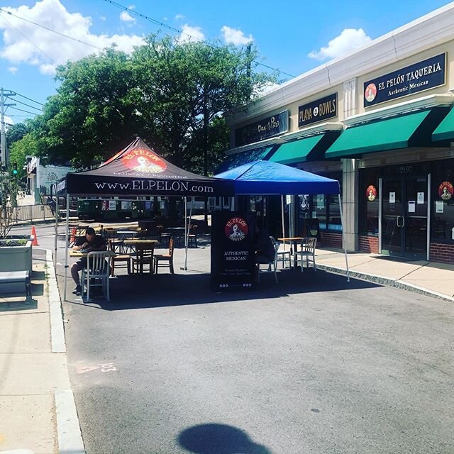
<path id="1" fill-rule="evenodd" d="M 254 443 L 245 431 L 226 424 L 201 424 L 179 434 L 182 448 L 196 454 L 271 454 Z"/>

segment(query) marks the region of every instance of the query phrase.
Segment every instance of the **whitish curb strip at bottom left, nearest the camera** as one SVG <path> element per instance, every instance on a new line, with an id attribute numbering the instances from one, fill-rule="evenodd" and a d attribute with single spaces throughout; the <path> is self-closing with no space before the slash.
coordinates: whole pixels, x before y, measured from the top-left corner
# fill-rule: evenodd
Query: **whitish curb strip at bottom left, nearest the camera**
<path id="1" fill-rule="evenodd" d="M 86 454 L 71 389 L 55 392 L 58 449 L 65 454 Z"/>

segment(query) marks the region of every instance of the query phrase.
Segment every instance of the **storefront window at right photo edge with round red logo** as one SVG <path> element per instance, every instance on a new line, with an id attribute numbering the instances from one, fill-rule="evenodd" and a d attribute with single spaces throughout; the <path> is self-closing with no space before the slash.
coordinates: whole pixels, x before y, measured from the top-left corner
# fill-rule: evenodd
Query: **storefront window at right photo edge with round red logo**
<path id="1" fill-rule="evenodd" d="M 432 171 L 431 238 L 450 242 L 454 228 L 454 160 L 433 162 Z"/>

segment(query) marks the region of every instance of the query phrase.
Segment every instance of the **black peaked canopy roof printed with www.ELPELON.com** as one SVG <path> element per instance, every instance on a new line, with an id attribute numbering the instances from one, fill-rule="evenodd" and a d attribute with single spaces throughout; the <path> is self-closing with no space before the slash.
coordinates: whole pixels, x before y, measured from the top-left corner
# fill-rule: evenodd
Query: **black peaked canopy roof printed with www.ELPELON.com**
<path id="1" fill-rule="evenodd" d="M 62 189 L 59 187 L 59 190 Z M 94 170 L 68 173 L 72 195 L 233 196 L 233 181 L 203 177 L 166 161 L 136 138 Z"/>

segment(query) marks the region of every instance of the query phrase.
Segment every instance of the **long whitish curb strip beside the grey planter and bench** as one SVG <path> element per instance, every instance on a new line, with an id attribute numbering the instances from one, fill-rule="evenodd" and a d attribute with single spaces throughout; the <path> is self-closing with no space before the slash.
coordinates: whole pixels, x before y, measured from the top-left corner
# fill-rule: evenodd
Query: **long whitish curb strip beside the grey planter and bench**
<path id="1" fill-rule="evenodd" d="M 52 352 L 65 353 L 65 329 L 63 328 L 62 301 L 58 292 L 55 268 L 52 262 L 52 251 L 45 250 L 45 261 L 48 266 L 49 309 L 50 309 L 50 338 Z"/>

